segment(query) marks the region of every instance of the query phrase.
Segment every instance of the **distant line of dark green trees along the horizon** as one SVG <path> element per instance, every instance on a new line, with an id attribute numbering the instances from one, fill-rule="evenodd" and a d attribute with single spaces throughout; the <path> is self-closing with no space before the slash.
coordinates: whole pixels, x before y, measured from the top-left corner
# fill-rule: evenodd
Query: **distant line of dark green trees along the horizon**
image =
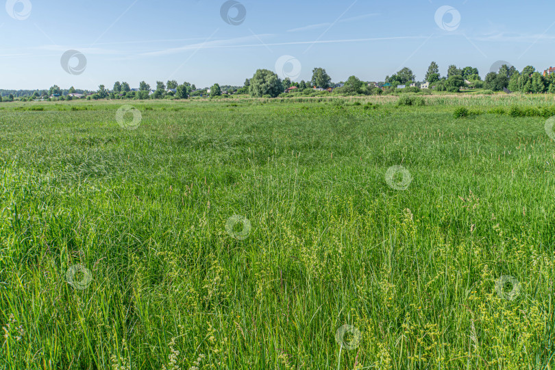
<path id="1" fill-rule="evenodd" d="M 447 75 L 441 76 L 439 66 L 432 62 L 425 74 L 425 82 L 428 88 L 436 91 L 458 92 L 462 87 L 483 88 L 485 90 L 519 91 L 521 93 L 555 93 L 555 73 L 544 76 L 533 66 L 526 66 L 522 71 L 518 71 L 515 66 L 503 64 L 499 71 L 490 72 L 482 81 L 477 68 L 466 66 L 458 68 L 452 64 L 447 69 Z M 414 87 L 404 89 L 406 92 L 420 90 L 423 82 L 417 82 L 415 74 L 408 67 L 397 73 L 386 76 L 383 82 L 363 82 L 356 76 L 351 76 L 345 82 L 332 84 L 332 78 L 323 68 L 314 68 L 310 81 L 301 80 L 293 82 L 290 78 L 280 77 L 273 71 L 258 69 L 254 76 L 245 79 L 243 86 L 220 86 L 214 84 L 210 89 L 204 88 L 197 90 L 194 84 L 184 82 L 178 84 L 175 80 L 164 82 L 157 81 L 156 88 L 151 88 L 145 81 L 139 83 L 138 89 L 130 88 L 127 82 L 115 82 L 112 90 L 100 85 L 98 90 L 77 90 L 69 88 L 62 90 L 57 85 L 51 86 L 49 90 L 0 90 L 0 101 L 14 101 L 14 99 L 73 99 L 72 95 L 81 94 L 86 99 L 187 99 L 190 96 L 210 96 L 219 97 L 223 93 L 248 94 L 251 97 L 277 97 L 295 87 L 295 92 L 311 94 L 314 88 L 328 89 L 336 87 L 338 95 L 381 95 L 391 93 L 399 85 L 414 84 Z"/>

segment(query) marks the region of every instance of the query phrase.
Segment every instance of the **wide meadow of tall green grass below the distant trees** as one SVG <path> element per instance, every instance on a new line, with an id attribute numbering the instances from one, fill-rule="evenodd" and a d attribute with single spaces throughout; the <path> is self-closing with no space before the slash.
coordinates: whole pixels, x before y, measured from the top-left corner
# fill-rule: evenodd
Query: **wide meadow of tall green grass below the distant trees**
<path id="1" fill-rule="evenodd" d="M 554 97 L 396 99 L 2 103 L 0 368 L 554 369 Z"/>

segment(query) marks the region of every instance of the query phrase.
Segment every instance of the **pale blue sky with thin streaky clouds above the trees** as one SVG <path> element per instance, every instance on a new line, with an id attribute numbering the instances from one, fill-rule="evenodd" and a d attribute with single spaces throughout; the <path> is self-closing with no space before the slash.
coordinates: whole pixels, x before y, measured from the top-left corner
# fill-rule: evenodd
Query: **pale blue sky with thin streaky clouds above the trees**
<path id="1" fill-rule="evenodd" d="M 555 66 L 550 1 L 5 2 L 5 89 L 92 90 L 118 80 L 134 88 L 143 79 L 241 86 L 259 68 L 297 81 L 323 67 L 334 82 L 350 75 L 379 82 L 408 66 L 422 80 L 432 60 L 442 75 L 456 64 L 476 66 L 482 78 L 497 60 L 519 71 Z M 68 50 L 82 53 L 80 66 L 70 58 L 62 68 Z"/>

